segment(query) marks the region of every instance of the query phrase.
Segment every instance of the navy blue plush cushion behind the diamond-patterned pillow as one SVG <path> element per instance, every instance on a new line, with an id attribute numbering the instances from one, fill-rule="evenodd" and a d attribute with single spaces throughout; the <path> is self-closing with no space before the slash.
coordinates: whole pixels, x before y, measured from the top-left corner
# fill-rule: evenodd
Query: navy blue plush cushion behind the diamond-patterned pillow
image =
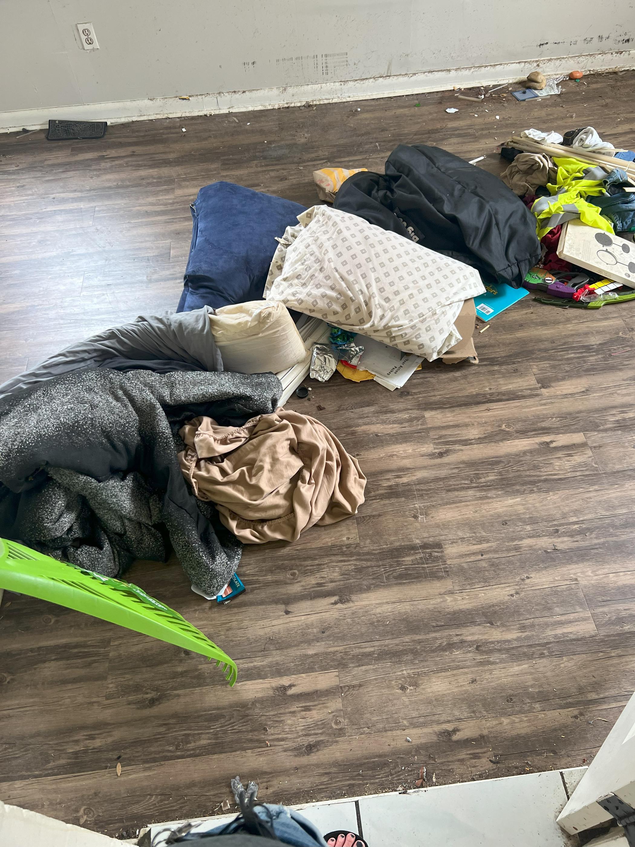
<path id="1" fill-rule="evenodd" d="M 213 182 L 198 192 L 191 210 L 190 258 L 177 312 L 260 300 L 275 239 L 297 224 L 305 207 L 233 182 Z"/>

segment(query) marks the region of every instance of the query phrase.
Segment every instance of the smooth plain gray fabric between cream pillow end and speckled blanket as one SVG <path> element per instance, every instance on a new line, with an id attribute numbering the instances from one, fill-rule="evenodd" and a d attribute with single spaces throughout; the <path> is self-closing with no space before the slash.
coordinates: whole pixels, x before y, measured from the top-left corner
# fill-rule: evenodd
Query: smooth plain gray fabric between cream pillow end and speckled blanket
<path id="1" fill-rule="evenodd" d="M 0 385 L 0 398 L 87 368 L 222 371 L 223 360 L 207 318 L 210 312 L 213 309 L 206 306 L 180 314 L 141 315 L 130 324 L 105 329 L 9 379 Z"/>

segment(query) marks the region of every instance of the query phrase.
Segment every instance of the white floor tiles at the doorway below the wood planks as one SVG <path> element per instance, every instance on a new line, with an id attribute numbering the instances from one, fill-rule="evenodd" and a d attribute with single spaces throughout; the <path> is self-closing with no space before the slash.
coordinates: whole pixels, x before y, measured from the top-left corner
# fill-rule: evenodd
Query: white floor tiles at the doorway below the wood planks
<path id="1" fill-rule="evenodd" d="M 323 833 L 357 832 L 357 803 L 368 847 L 572 847 L 577 839 L 563 833 L 555 818 L 585 771 L 527 773 L 294 808 Z M 233 817 L 208 818 L 207 826 Z M 152 833 L 165 826 L 153 826 Z"/>

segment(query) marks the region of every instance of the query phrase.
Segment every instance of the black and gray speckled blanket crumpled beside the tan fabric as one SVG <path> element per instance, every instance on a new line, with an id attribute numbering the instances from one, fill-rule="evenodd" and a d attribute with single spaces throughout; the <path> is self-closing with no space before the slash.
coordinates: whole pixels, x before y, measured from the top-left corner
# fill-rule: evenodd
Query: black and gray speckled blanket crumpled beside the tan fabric
<path id="1" fill-rule="evenodd" d="M 165 561 L 169 541 L 191 582 L 217 593 L 241 545 L 191 494 L 178 430 L 198 415 L 244 424 L 280 391 L 273 374 L 98 368 L 36 381 L 0 400 L 0 535 L 108 576 Z"/>

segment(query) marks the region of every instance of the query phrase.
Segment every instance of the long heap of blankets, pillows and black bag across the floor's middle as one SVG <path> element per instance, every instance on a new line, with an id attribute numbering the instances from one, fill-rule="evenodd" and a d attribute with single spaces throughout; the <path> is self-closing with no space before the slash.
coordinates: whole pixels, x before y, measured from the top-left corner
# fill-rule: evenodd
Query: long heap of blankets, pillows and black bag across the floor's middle
<path id="1" fill-rule="evenodd" d="M 484 280 L 521 285 L 540 246 L 514 191 L 435 147 L 397 147 L 385 174 L 324 169 L 316 185 L 332 206 L 205 186 L 175 313 L 0 386 L 1 535 L 108 576 L 174 550 L 213 596 L 243 544 L 356 514 L 356 459 L 284 408 L 316 348 L 331 373 L 366 348 L 374 373 L 358 375 L 389 388 L 423 359 L 476 361 L 472 298 Z M 372 365 L 382 351 L 387 374 Z"/>

